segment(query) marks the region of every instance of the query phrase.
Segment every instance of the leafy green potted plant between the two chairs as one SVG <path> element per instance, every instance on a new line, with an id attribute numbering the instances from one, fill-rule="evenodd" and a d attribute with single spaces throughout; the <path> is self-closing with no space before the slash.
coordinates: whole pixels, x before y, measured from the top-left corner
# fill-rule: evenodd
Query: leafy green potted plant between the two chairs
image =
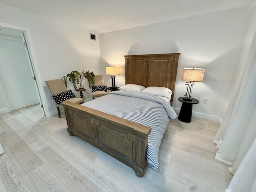
<path id="1" fill-rule="evenodd" d="M 67 76 L 62 77 L 64 82 L 67 86 L 67 78 L 70 82 L 73 83 L 74 89 L 77 90 L 77 84 L 79 84 L 79 89 L 84 89 L 83 79 L 86 78 L 88 80 L 89 87 L 92 88 L 92 84 L 94 84 L 94 73 L 90 71 L 72 71 L 71 73 L 67 74 Z"/>

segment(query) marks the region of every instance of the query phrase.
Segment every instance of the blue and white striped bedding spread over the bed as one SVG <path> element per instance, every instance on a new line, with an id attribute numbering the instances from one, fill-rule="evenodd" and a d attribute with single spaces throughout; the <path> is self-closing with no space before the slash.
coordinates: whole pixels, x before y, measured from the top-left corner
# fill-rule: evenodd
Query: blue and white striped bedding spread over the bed
<path id="1" fill-rule="evenodd" d="M 114 91 L 82 105 L 151 127 L 147 161 L 149 166 L 158 169 L 158 152 L 163 134 L 169 120 L 177 116 L 170 104 L 154 95 Z"/>

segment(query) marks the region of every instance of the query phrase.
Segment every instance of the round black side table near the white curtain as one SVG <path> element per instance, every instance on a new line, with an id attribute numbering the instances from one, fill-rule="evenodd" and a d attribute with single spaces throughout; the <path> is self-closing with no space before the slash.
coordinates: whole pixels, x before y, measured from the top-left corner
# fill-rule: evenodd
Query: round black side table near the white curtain
<path id="1" fill-rule="evenodd" d="M 194 99 L 194 98 L 190 98 L 190 99 L 192 99 L 192 101 L 183 100 L 182 97 L 178 98 L 178 100 L 180 102 L 182 102 L 178 120 L 185 122 L 185 123 L 191 122 L 192 106 L 193 106 L 193 104 L 199 103 L 199 101 L 197 99 Z"/>

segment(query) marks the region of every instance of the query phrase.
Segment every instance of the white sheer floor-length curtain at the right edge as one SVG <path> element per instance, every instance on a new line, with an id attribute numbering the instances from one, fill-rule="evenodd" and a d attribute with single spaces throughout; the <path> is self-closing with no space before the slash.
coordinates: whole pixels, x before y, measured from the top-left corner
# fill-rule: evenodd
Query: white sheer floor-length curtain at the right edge
<path id="1" fill-rule="evenodd" d="M 256 37 L 248 52 L 234 96 L 214 138 L 216 159 L 234 175 L 226 192 L 256 192 Z"/>

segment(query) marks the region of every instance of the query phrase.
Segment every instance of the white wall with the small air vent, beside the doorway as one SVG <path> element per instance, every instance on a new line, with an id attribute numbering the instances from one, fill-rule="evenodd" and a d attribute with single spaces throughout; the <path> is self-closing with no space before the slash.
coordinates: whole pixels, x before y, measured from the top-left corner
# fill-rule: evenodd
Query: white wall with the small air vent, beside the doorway
<path id="1" fill-rule="evenodd" d="M 46 115 L 57 113 L 54 102 L 50 100 L 46 80 L 61 78 L 72 70 L 90 70 L 94 74 L 100 74 L 99 44 L 98 41 L 90 40 L 90 31 L 69 27 L 65 23 L 2 3 L 0 25 L 1 23 L 20 26 L 27 33 Z M 98 40 L 97 34 L 96 39 Z M 87 90 L 84 92 L 84 99 L 91 98 L 88 84 L 85 85 Z M 71 84 L 68 88 L 74 90 Z M 79 92 L 74 93 L 80 97 Z"/>

